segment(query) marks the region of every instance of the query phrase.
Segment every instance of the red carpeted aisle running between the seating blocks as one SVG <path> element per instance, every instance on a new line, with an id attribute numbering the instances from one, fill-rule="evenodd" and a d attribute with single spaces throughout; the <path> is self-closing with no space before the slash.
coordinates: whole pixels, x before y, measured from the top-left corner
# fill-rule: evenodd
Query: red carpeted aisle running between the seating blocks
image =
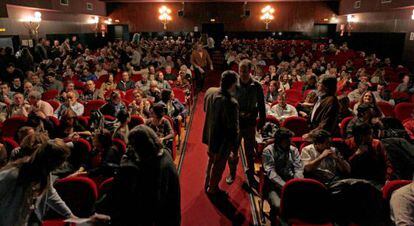
<path id="1" fill-rule="evenodd" d="M 218 76 L 218 74 L 210 75 Z M 216 77 L 217 79 L 217 77 Z M 217 84 L 210 77 L 208 84 Z M 228 192 L 228 199 L 210 200 L 204 193 L 207 166 L 207 146 L 201 142 L 204 125 L 204 93 L 199 94 L 184 156 L 181 181 L 181 213 L 183 226 L 250 225 L 252 222 L 248 193 L 242 188 L 245 175 L 239 164 L 238 175 L 232 185 L 227 185 L 223 174 L 220 187 Z"/>

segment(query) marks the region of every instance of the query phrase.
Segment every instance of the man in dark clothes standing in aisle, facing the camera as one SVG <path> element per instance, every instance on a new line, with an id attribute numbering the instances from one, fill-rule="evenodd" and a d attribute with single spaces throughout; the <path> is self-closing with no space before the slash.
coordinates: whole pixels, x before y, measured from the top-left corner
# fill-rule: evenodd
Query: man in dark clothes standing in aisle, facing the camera
<path id="1" fill-rule="evenodd" d="M 262 85 L 251 77 L 251 69 L 252 63 L 250 60 L 242 60 L 240 62 L 240 79 L 236 90 L 236 98 L 239 103 L 240 111 L 239 145 L 241 143 L 241 139 L 243 139 L 244 154 L 247 161 L 247 179 L 250 182 L 250 185 L 255 187 L 257 185 L 257 181 L 254 178 L 254 147 L 256 142 L 256 128 L 258 130 L 262 129 L 265 123 L 266 107 Z M 256 127 L 256 118 L 258 115 L 259 121 Z M 226 178 L 226 182 L 228 184 L 232 184 L 234 178 L 236 177 L 238 160 L 238 150 L 236 149 L 230 155 L 229 159 L 230 175 Z"/>

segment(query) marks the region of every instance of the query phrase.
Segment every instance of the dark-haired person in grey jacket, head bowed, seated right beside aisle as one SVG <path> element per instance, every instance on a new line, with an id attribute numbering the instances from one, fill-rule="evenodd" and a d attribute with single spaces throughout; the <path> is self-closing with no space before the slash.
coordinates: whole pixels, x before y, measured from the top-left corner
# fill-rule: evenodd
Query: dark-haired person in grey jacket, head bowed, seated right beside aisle
<path id="1" fill-rule="evenodd" d="M 299 151 L 291 144 L 293 133 L 280 128 L 275 133 L 275 142 L 263 151 L 265 190 L 270 202 L 271 219 L 276 219 L 280 208 L 283 185 L 293 178 L 303 178 L 303 164 Z M 275 225 L 275 222 L 272 222 Z"/>

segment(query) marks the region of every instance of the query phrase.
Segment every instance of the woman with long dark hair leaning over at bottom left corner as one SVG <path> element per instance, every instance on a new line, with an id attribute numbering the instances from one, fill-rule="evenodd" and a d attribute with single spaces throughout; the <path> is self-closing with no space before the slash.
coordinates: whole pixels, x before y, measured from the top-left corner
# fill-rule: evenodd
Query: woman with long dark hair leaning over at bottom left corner
<path id="1" fill-rule="evenodd" d="M 33 212 L 40 218 L 43 216 L 46 204 L 65 218 L 75 217 L 56 193 L 50 178 L 50 173 L 62 165 L 69 153 L 62 140 L 49 140 L 30 157 L 0 170 L 0 225 L 26 225 Z"/>

